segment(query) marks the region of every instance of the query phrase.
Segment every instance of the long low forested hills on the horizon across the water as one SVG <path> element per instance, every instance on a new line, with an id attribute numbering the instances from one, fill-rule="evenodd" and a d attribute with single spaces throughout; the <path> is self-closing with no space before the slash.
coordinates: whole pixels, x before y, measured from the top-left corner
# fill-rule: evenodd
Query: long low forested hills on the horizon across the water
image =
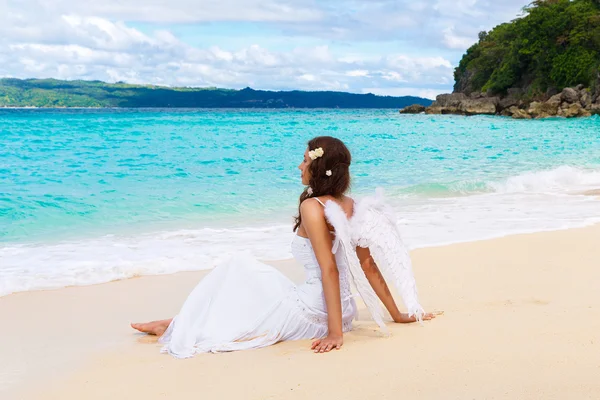
<path id="1" fill-rule="evenodd" d="M 343 92 L 170 88 L 100 81 L 0 79 L 0 107 L 402 108 L 431 100 Z"/>

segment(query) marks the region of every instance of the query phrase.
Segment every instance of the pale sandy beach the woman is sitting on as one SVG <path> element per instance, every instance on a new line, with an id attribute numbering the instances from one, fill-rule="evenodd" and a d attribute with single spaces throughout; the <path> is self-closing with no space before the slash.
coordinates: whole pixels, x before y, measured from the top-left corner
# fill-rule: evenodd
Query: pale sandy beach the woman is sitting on
<path id="1" fill-rule="evenodd" d="M 2 399 L 599 399 L 600 226 L 412 252 L 435 321 L 364 309 L 341 351 L 308 341 L 160 354 L 132 321 L 177 312 L 205 272 L 0 298 Z M 296 281 L 293 261 L 276 263 Z"/>

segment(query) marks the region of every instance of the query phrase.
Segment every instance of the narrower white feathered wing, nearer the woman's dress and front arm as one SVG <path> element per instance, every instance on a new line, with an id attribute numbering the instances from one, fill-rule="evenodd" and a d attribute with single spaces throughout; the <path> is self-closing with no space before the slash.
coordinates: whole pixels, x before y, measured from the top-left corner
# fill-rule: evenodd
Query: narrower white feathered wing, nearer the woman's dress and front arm
<path id="1" fill-rule="evenodd" d="M 350 223 L 346 218 L 346 213 L 338 204 L 333 201 L 328 201 L 325 204 L 325 216 L 329 223 L 335 228 L 336 239 L 333 252 L 342 252 L 346 258 L 346 264 L 348 265 L 352 281 L 354 282 L 358 294 L 365 302 L 365 305 L 369 309 L 369 312 L 377 325 L 379 325 L 383 332 L 388 333 L 385 322 L 383 321 L 383 309 L 379 303 L 379 298 L 367 280 L 365 272 L 358 261 L 358 256 L 356 255 L 356 246 L 352 244 Z"/>

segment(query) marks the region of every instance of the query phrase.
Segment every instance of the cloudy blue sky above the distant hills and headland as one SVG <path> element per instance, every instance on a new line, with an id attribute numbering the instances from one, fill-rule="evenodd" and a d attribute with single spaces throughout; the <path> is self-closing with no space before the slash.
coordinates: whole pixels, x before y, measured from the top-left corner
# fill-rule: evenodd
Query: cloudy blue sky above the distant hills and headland
<path id="1" fill-rule="evenodd" d="M 0 0 L 0 77 L 434 98 L 530 0 Z"/>

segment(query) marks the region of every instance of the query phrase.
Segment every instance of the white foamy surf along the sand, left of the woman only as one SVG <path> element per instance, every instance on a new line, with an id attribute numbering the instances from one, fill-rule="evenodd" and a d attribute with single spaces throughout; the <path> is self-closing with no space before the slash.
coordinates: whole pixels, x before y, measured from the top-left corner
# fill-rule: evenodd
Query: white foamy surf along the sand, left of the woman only
<path id="1" fill-rule="evenodd" d="M 263 260 L 286 259 L 291 235 L 290 226 L 277 225 L 6 245 L 0 247 L 0 296 L 211 269 L 236 250 Z"/>

